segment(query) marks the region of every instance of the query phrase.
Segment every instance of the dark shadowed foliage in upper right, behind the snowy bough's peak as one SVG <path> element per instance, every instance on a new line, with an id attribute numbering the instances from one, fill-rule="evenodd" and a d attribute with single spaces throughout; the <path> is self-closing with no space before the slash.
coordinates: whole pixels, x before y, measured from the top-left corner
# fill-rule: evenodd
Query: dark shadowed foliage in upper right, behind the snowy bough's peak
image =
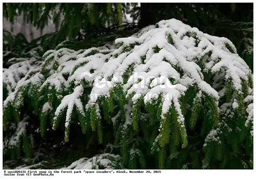
<path id="1" fill-rule="evenodd" d="M 140 27 L 175 18 L 204 33 L 226 37 L 253 70 L 252 3 L 141 3 L 131 13 L 135 18 L 141 15 Z"/>

